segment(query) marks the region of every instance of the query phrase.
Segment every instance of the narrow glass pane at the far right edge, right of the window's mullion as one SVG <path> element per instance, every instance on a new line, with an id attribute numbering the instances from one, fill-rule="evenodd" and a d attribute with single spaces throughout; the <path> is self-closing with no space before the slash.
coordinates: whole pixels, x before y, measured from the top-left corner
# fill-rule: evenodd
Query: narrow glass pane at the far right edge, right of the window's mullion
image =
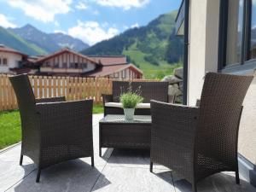
<path id="1" fill-rule="evenodd" d="M 252 28 L 251 28 L 250 59 L 256 59 L 256 0 L 252 6 Z"/>

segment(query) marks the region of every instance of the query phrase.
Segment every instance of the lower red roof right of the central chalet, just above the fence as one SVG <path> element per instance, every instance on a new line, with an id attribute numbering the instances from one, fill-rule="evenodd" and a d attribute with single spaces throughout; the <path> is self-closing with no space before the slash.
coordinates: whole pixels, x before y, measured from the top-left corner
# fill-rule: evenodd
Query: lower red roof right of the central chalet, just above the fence
<path id="1" fill-rule="evenodd" d="M 103 76 L 108 76 L 113 73 L 118 73 L 120 71 L 125 70 L 126 68 L 131 68 L 137 73 L 143 74 L 143 72 L 135 67 L 132 64 L 122 64 L 122 65 L 110 65 L 110 66 L 103 66 L 100 70 L 96 71 L 95 73 L 90 73 L 89 76 L 93 77 L 103 77 Z"/>

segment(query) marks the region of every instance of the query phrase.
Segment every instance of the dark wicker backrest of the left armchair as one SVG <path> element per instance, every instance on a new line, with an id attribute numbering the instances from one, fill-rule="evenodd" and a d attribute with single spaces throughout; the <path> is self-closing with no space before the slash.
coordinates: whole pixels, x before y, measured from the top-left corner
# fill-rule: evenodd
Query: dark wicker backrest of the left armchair
<path id="1" fill-rule="evenodd" d="M 9 77 L 9 80 L 15 90 L 23 129 L 23 127 L 26 126 L 26 123 L 29 124 L 29 119 L 34 118 L 36 103 L 35 96 L 26 74 Z"/>

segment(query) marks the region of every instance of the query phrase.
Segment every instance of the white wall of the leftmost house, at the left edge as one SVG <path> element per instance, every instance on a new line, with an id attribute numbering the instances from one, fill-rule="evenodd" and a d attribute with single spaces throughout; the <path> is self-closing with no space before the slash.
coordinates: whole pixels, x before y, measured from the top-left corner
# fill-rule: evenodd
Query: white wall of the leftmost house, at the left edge
<path id="1" fill-rule="evenodd" d="M 0 52 L 1 65 L 0 73 L 9 73 L 9 68 L 18 67 L 18 62 L 22 61 L 22 56 L 14 53 Z M 8 65 L 3 65 L 3 58 L 7 59 Z"/>

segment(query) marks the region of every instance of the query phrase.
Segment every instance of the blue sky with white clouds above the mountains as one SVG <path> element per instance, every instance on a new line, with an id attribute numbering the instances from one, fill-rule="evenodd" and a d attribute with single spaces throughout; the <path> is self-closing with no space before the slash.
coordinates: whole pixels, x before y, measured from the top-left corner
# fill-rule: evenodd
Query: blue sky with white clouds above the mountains
<path id="1" fill-rule="evenodd" d="M 31 24 L 93 45 L 125 30 L 146 26 L 179 8 L 181 0 L 0 0 L 0 26 Z"/>

